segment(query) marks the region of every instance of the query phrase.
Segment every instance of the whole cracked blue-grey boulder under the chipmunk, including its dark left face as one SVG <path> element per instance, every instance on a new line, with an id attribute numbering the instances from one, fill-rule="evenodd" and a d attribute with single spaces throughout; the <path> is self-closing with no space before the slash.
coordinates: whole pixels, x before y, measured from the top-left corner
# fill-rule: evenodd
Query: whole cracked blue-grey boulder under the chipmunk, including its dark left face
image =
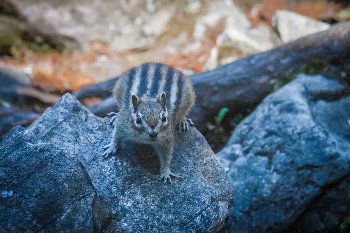
<path id="1" fill-rule="evenodd" d="M 5 232 L 218 232 L 231 211 L 232 188 L 203 136 L 176 133 L 162 185 L 152 147 L 123 141 L 105 160 L 107 119 L 70 94 L 27 130 L 0 144 L 0 229 Z"/>

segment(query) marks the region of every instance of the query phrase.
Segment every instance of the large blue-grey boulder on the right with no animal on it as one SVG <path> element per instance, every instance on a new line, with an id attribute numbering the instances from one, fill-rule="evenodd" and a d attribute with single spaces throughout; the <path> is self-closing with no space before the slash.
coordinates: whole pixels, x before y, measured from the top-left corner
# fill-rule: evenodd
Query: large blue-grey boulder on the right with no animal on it
<path id="1" fill-rule="evenodd" d="M 301 74 L 237 126 L 217 154 L 235 191 L 228 232 L 312 233 L 350 215 L 348 95 Z"/>

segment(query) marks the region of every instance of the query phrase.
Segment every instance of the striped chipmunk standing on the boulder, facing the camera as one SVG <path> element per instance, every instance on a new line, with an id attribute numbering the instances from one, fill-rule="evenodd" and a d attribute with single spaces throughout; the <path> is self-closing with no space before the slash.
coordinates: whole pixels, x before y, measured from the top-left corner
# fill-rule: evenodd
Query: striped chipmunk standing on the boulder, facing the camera
<path id="1" fill-rule="evenodd" d="M 117 152 L 121 139 L 152 145 L 160 161 L 158 181 L 172 183 L 174 132 L 177 126 L 182 131 L 194 126 L 185 117 L 195 101 L 192 83 L 171 66 L 146 63 L 121 74 L 113 95 L 119 112 L 107 114 L 114 131 L 111 143 L 103 147 L 104 158 Z"/>

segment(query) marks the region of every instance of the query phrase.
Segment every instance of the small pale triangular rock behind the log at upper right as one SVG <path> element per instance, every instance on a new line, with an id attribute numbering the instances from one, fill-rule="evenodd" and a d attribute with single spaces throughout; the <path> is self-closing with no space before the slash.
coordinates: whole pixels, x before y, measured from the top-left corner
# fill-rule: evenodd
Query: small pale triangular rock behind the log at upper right
<path id="1" fill-rule="evenodd" d="M 327 30 L 330 24 L 288 10 L 276 10 L 272 17 L 272 26 L 278 31 L 281 41 L 289 43 L 301 37 Z"/>

